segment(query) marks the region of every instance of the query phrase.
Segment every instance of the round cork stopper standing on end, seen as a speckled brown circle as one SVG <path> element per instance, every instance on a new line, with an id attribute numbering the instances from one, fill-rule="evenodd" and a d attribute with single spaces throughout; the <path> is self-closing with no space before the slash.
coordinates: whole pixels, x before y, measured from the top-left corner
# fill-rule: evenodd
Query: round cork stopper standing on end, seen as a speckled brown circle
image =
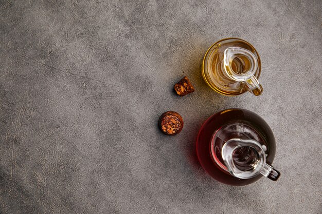
<path id="1" fill-rule="evenodd" d="M 159 128 L 167 135 L 175 135 L 183 128 L 182 116 L 174 111 L 167 111 L 159 118 Z"/>

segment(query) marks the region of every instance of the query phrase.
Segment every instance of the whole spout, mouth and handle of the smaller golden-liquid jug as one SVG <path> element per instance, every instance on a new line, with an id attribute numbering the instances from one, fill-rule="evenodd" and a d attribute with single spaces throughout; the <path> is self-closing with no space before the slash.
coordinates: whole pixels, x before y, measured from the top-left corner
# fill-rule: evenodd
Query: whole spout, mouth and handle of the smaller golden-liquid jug
<path id="1" fill-rule="evenodd" d="M 244 82 L 247 90 L 258 96 L 263 87 L 255 77 L 258 68 L 256 56 L 251 51 L 240 47 L 229 47 L 224 51 L 224 71 L 235 81 Z"/>

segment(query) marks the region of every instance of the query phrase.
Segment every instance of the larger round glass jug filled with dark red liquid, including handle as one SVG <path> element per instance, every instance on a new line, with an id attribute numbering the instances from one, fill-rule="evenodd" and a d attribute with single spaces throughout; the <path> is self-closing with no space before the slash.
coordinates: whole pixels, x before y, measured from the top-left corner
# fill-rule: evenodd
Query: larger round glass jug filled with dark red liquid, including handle
<path id="1" fill-rule="evenodd" d="M 196 152 L 210 176 L 225 184 L 247 185 L 262 176 L 276 181 L 280 176 L 272 167 L 275 139 L 271 128 L 245 109 L 210 116 L 199 131 Z"/>

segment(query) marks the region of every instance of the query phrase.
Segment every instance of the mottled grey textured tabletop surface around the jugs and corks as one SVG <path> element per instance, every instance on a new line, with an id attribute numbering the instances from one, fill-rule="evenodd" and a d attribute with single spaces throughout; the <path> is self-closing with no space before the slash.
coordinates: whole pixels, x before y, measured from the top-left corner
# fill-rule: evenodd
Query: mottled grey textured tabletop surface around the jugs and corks
<path id="1" fill-rule="evenodd" d="M 321 1 L 0 0 L 0 213 L 321 213 Z M 252 43 L 264 93 L 201 77 L 207 48 Z M 196 91 L 172 87 L 187 75 Z M 239 107 L 270 124 L 278 182 L 232 187 L 195 156 Z M 175 137 L 158 116 L 179 112 Z"/>

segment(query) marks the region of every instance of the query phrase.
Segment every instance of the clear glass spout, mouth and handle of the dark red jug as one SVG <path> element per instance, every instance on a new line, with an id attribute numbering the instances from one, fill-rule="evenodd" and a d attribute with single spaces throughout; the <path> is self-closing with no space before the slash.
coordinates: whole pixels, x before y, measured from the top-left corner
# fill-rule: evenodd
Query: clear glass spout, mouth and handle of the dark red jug
<path id="1" fill-rule="evenodd" d="M 228 140 L 222 147 L 222 158 L 232 176 L 240 179 L 250 179 L 262 174 L 276 181 L 280 172 L 270 163 L 266 163 L 265 147 L 252 139 L 234 138 Z"/>

